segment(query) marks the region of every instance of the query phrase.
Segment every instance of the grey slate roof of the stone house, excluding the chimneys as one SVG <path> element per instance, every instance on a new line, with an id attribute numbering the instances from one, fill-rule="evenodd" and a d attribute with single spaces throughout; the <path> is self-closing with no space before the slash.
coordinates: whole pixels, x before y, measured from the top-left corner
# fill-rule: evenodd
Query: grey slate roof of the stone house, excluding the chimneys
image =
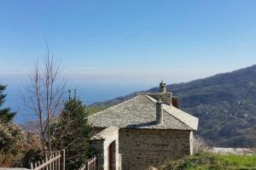
<path id="1" fill-rule="evenodd" d="M 198 118 L 174 106 L 163 104 L 163 114 L 164 122 L 156 124 L 156 100 L 148 95 L 137 95 L 89 116 L 88 122 L 92 127 L 197 130 Z"/>

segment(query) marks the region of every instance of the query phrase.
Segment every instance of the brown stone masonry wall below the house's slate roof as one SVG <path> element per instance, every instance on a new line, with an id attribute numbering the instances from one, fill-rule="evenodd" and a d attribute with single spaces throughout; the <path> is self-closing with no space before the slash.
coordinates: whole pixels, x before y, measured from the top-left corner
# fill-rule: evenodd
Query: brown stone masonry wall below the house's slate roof
<path id="1" fill-rule="evenodd" d="M 191 133 L 179 130 L 119 129 L 122 169 L 148 169 L 166 160 L 192 154 Z"/>

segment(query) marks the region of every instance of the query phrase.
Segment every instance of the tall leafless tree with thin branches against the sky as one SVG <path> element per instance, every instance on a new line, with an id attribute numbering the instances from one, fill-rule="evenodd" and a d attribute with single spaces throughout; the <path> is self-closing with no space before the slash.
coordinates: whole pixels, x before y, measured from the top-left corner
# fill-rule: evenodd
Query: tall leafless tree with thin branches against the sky
<path id="1" fill-rule="evenodd" d="M 65 91 L 66 81 L 61 76 L 60 61 L 47 54 L 44 61 L 37 61 L 29 75 L 30 82 L 26 85 L 26 94 L 22 100 L 26 108 L 31 111 L 27 127 L 41 136 L 44 152 L 52 150 L 52 136 L 55 133 L 55 117 L 61 111 L 61 101 Z"/>

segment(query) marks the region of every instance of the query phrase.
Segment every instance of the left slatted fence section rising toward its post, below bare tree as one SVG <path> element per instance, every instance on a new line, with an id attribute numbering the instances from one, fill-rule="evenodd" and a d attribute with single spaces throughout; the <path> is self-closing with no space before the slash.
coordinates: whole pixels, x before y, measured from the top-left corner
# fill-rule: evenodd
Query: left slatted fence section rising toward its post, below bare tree
<path id="1" fill-rule="evenodd" d="M 65 150 L 52 152 L 45 160 L 31 163 L 32 170 L 65 170 Z"/>

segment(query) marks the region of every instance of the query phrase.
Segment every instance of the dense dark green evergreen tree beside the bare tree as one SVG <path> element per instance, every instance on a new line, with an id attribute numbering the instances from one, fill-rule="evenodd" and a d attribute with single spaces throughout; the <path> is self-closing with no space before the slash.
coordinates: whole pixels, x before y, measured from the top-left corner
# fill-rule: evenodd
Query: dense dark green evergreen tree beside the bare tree
<path id="1" fill-rule="evenodd" d="M 77 169 L 92 155 L 91 127 L 87 123 L 86 105 L 69 96 L 55 124 L 54 148 L 66 150 L 67 169 Z"/>

